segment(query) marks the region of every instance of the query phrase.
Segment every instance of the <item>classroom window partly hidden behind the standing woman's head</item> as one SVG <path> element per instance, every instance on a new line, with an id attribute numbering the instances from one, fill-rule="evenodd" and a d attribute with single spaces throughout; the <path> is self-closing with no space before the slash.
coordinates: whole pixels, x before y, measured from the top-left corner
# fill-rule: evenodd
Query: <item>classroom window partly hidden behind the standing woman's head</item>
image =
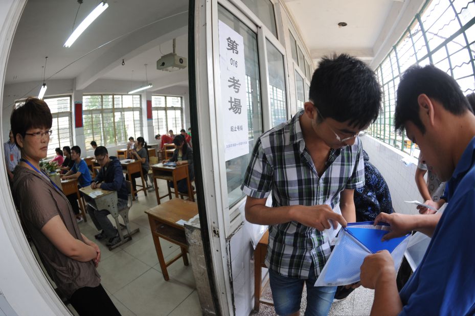
<path id="1" fill-rule="evenodd" d="M 53 134 L 48 144 L 48 157 L 56 155 L 56 148 L 73 145 L 73 128 L 71 119 L 71 96 L 49 97 L 43 99 L 50 108 L 53 116 L 53 124 L 51 129 Z M 15 102 L 15 107 L 21 106 L 25 100 Z"/>

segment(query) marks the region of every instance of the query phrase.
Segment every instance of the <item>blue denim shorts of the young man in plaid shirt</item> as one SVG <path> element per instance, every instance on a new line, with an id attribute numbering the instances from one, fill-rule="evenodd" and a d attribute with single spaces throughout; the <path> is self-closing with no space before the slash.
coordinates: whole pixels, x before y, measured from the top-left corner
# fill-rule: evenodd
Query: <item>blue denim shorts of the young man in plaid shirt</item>
<path id="1" fill-rule="evenodd" d="M 274 308 L 278 315 L 288 315 L 300 310 L 304 282 L 307 285 L 305 316 L 328 315 L 335 296 L 336 286 L 313 286 L 316 282 L 313 264 L 306 280 L 284 277 L 269 269 L 269 281 Z"/>

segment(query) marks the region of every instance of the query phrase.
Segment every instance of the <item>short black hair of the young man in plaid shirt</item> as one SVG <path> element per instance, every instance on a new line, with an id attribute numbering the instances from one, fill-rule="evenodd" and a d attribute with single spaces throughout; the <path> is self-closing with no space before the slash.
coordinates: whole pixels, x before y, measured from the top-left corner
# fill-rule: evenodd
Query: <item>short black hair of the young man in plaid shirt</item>
<path id="1" fill-rule="evenodd" d="M 364 128 L 378 117 L 381 87 L 363 61 L 333 55 L 324 57 L 313 73 L 309 98 L 322 117 Z"/>

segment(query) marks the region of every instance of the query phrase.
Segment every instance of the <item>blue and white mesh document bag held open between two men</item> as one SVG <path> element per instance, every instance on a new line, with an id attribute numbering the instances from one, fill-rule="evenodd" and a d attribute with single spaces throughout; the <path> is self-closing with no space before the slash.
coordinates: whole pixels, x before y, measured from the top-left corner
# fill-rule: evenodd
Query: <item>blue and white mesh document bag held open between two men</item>
<path id="1" fill-rule="evenodd" d="M 397 269 L 404 256 L 410 234 L 381 241 L 382 236 L 387 233 L 389 233 L 389 226 L 386 224 L 374 226 L 372 221 L 349 223 L 338 234 L 336 245 L 315 286 L 347 285 L 358 282 L 360 266 L 365 257 L 380 250 L 391 253 Z"/>

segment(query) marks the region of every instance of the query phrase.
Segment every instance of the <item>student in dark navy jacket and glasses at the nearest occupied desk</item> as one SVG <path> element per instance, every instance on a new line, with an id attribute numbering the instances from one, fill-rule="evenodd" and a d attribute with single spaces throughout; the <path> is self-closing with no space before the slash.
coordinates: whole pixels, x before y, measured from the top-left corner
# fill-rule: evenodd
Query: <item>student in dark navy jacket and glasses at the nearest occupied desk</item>
<path id="1" fill-rule="evenodd" d="M 96 160 L 101 166 L 101 171 L 91 183 L 92 189 L 103 189 L 109 191 L 117 191 L 117 210 L 121 210 L 127 206 L 127 187 L 124 176 L 122 174 L 122 166 L 117 157 L 109 157 L 107 148 L 99 146 L 94 151 Z M 112 225 L 107 215 L 108 210 L 98 210 L 94 200 L 89 200 L 87 204 L 87 213 L 91 216 L 97 230 L 102 230 L 95 235 L 97 240 L 108 238 L 107 246 L 113 246 L 120 242 L 119 231 Z"/>

